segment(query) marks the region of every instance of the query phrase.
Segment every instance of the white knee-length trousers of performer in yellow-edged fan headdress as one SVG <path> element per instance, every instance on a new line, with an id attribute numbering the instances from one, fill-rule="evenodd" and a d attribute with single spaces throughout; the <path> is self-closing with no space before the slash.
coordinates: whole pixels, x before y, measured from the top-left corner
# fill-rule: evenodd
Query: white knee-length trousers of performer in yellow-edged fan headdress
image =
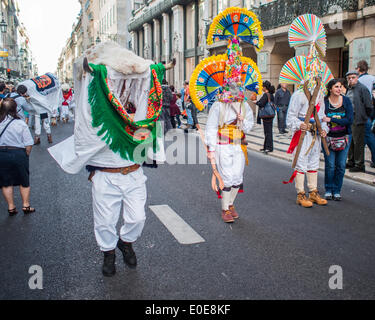
<path id="1" fill-rule="evenodd" d="M 215 158 L 217 169 L 223 178 L 225 187 L 229 188 L 242 184 L 245 155 L 240 145 L 217 145 Z"/>

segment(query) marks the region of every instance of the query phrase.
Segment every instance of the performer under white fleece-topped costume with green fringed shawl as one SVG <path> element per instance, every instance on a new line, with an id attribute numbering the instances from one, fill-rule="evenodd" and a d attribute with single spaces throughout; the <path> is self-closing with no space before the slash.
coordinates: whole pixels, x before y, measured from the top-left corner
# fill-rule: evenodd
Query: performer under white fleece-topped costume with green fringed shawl
<path id="1" fill-rule="evenodd" d="M 87 166 L 95 237 L 104 253 L 102 272 L 113 276 L 116 247 L 129 267 L 137 265 L 132 244 L 145 224 L 147 197 L 140 164 L 147 157 L 165 161 L 158 118 L 161 81 L 170 66 L 155 65 L 114 43 L 102 43 L 85 55 L 92 62 L 84 60 L 86 71 L 82 60 L 75 63 L 74 136 L 49 151 L 68 173 Z M 117 234 L 121 213 L 124 223 Z"/>

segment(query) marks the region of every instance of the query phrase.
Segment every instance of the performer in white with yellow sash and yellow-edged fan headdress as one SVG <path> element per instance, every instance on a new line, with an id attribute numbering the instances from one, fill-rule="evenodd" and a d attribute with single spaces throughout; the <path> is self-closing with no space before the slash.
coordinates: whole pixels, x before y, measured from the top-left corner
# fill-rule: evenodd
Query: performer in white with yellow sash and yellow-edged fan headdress
<path id="1" fill-rule="evenodd" d="M 208 158 L 216 162 L 224 183 L 219 192 L 224 222 L 231 223 L 239 217 L 234 202 L 243 192 L 243 173 L 248 164 L 248 133 L 254 124 L 253 111 L 245 101 L 245 90 L 261 91 L 261 75 L 249 58 L 242 56 L 240 41 L 260 49 L 263 35 L 259 20 L 251 11 L 228 8 L 213 21 L 208 43 L 228 40 L 227 54 L 203 60 L 190 81 L 190 94 L 198 109 L 213 101 L 205 132 Z M 215 168 L 214 168 L 215 172 Z"/>

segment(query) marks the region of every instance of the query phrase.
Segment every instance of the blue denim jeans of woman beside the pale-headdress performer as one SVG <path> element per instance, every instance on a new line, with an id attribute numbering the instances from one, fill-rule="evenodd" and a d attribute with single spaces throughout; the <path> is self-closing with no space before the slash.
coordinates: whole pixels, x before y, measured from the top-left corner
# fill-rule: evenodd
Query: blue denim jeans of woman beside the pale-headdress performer
<path id="1" fill-rule="evenodd" d="M 322 148 L 325 159 L 324 184 L 326 192 L 340 194 L 345 175 L 346 157 L 348 156 L 351 139 L 352 137 L 349 135 L 349 141 L 344 150 L 333 151 L 329 148 L 329 156 L 327 156 L 324 148 Z"/>

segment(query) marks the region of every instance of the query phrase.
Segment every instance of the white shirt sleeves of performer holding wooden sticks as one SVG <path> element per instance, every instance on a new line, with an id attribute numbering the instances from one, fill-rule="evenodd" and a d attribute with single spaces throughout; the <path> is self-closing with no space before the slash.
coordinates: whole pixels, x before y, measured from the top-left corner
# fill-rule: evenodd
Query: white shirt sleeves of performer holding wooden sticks
<path id="1" fill-rule="evenodd" d="M 318 95 L 316 103 L 319 103 L 320 105 L 318 116 L 322 125 L 322 129 L 328 133 L 328 125 L 326 122 L 323 122 L 323 118 L 325 117 L 325 104 L 322 94 Z M 288 114 L 286 117 L 286 125 L 290 130 L 292 130 L 293 133 L 300 129 L 300 126 L 304 122 L 304 119 L 306 117 L 308 108 L 309 101 L 307 100 L 305 93 L 299 90 L 295 91 L 290 99 Z"/>

